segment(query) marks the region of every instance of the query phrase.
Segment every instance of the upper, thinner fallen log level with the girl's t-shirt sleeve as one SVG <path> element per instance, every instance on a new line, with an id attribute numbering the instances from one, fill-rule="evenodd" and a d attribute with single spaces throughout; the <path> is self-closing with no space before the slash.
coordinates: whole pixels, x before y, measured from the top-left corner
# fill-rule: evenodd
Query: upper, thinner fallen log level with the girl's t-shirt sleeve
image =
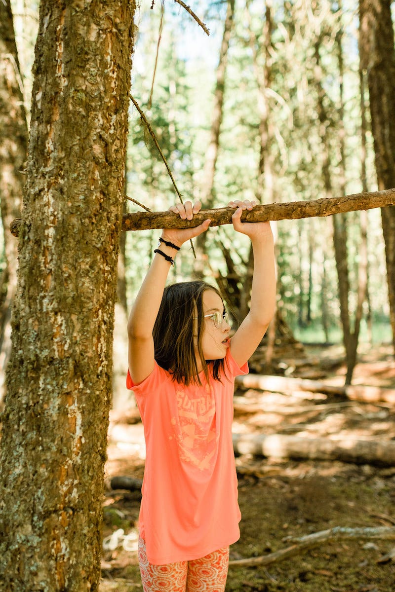
<path id="1" fill-rule="evenodd" d="M 308 378 L 288 378 L 261 374 L 246 374 L 236 378 L 236 385 L 245 388 L 258 388 L 271 392 L 322 392 L 328 395 L 340 395 L 354 401 L 374 403 L 383 401 L 395 404 L 395 389 L 364 385 L 336 386 Z"/>

